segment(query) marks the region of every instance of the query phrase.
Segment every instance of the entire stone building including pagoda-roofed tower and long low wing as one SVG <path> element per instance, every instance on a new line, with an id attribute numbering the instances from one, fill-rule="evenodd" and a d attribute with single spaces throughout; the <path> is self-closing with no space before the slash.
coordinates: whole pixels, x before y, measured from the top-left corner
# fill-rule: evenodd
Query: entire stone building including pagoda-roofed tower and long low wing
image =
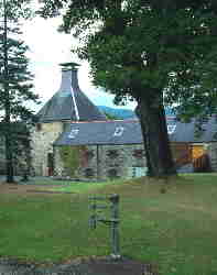
<path id="1" fill-rule="evenodd" d="M 145 175 L 145 152 L 138 120 L 108 121 L 80 91 L 77 64 L 62 64 L 59 90 L 37 113 L 32 132 L 35 175 L 79 179 Z M 195 123 L 167 118 L 173 156 L 181 172 L 217 170 L 215 119 L 199 138 Z M 210 167 L 209 167 L 210 166 Z"/>

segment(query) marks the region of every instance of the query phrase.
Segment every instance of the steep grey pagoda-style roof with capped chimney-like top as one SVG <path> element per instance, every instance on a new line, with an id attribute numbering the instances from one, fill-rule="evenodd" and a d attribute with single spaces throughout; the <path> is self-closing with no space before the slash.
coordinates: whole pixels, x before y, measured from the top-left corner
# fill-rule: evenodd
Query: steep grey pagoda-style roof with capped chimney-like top
<path id="1" fill-rule="evenodd" d="M 78 86 L 76 63 L 64 63 L 58 91 L 45 103 L 36 117 L 39 122 L 52 121 L 100 121 L 106 120 L 98 108 Z"/>

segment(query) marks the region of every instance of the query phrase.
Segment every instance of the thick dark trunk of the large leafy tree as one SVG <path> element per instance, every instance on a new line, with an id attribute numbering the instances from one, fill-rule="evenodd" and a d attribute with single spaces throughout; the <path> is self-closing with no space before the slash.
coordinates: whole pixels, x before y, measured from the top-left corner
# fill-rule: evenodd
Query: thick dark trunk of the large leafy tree
<path id="1" fill-rule="evenodd" d="M 176 175 L 163 105 L 154 105 L 154 100 L 150 97 L 141 97 L 138 101 L 138 110 L 147 151 L 149 176 Z"/>

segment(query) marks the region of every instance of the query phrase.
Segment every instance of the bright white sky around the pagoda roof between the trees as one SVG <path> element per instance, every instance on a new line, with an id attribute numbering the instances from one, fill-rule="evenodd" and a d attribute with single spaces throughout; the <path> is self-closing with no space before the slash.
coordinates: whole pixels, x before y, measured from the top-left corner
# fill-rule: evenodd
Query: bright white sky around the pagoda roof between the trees
<path id="1" fill-rule="evenodd" d="M 23 38 L 30 47 L 30 69 L 34 74 L 34 89 L 40 95 L 42 103 L 45 103 L 59 88 L 61 67 L 64 62 L 76 62 L 80 64 L 78 70 L 78 82 L 83 92 L 97 106 L 104 105 L 115 107 L 113 96 L 102 92 L 91 85 L 89 65 L 73 56 L 70 48 L 77 43 L 70 34 L 57 32 L 61 19 L 34 18 L 23 25 Z M 124 107 L 134 109 L 135 105 L 130 102 Z M 40 107 L 36 107 L 39 109 Z"/>

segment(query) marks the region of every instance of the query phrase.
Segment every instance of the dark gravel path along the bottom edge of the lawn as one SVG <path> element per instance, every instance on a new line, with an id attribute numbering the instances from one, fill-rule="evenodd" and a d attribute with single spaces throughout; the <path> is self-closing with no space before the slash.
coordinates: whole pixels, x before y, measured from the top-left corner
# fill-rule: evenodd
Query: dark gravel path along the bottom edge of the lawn
<path id="1" fill-rule="evenodd" d="M 91 258 L 47 266 L 0 260 L 0 275 L 156 275 L 151 265 L 129 258 Z"/>

